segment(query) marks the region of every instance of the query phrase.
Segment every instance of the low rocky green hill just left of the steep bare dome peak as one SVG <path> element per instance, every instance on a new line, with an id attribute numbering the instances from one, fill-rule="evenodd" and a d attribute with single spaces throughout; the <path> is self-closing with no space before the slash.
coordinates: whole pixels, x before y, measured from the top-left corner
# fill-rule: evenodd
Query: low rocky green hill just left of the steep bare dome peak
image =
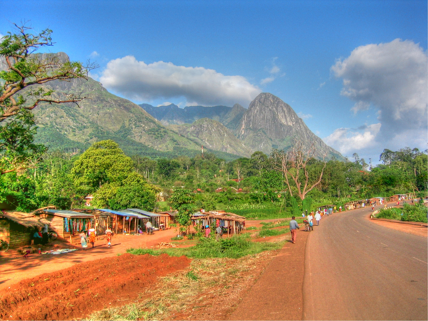
<path id="1" fill-rule="evenodd" d="M 192 125 L 169 125 L 168 128 L 205 148 L 244 157 L 251 155 L 250 150 L 229 129 L 213 119 L 201 118 Z"/>

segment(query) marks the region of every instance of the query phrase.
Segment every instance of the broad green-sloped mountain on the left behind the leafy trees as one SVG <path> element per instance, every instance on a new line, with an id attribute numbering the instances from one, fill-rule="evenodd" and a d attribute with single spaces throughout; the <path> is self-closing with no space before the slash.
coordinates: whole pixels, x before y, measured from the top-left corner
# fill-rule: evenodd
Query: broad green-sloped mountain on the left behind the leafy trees
<path id="1" fill-rule="evenodd" d="M 68 59 L 65 53 L 56 55 Z M 36 142 L 45 144 L 51 151 L 76 152 L 95 141 L 113 139 L 128 155 L 172 158 L 200 154 L 199 143 L 169 130 L 140 106 L 111 94 L 92 78 L 54 80 L 43 86 L 89 98 L 79 106 L 40 103 L 33 110 L 39 127 Z M 237 158 L 221 151 L 207 152 L 226 160 Z"/>

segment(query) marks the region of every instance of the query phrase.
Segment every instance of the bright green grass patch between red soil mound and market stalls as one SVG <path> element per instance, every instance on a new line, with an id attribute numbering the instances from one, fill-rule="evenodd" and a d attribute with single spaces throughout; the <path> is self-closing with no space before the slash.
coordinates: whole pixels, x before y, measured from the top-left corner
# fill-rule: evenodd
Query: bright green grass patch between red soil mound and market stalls
<path id="1" fill-rule="evenodd" d="M 279 233 L 283 234 L 285 232 Z M 279 235 L 276 234 L 276 235 Z M 277 250 L 282 247 L 282 242 L 252 242 L 249 235 L 237 235 L 232 238 L 220 239 L 215 241 L 214 238 L 200 238 L 199 242 L 193 247 L 171 248 L 171 249 L 134 249 L 126 250 L 127 253 L 134 255 L 159 255 L 167 253 L 170 256 L 187 256 L 192 259 L 206 258 L 232 258 L 238 259 L 249 254 L 256 254 L 268 250 Z"/>

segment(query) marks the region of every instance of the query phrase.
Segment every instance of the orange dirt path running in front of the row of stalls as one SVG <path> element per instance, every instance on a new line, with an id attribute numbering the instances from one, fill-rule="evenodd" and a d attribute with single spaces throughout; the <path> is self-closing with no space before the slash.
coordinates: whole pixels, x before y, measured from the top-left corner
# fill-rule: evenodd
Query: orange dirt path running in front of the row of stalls
<path id="1" fill-rule="evenodd" d="M 0 290 L 9 288 L 22 279 L 32 278 L 42 273 L 69 268 L 74 264 L 88 262 L 105 257 L 125 253 L 130 247 L 152 247 L 159 242 L 169 242 L 177 234 L 175 228 L 155 232 L 153 235 L 114 235 L 112 246 L 107 247 L 107 241 L 98 240 L 95 248 L 82 251 L 81 247 L 73 247 L 62 243 L 60 248 L 78 248 L 79 250 L 65 254 L 30 254 L 24 258 L 14 250 L 0 257 Z M 16 254 L 14 254 L 16 253 Z"/>

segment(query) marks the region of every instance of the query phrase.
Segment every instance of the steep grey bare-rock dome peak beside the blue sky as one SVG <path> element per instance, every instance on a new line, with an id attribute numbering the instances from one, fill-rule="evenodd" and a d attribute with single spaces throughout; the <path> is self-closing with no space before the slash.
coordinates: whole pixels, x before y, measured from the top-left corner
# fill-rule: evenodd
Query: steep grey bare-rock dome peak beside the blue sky
<path id="1" fill-rule="evenodd" d="M 315 157 L 342 159 L 342 155 L 327 146 L 321 138 L 294 112 L 290 105 L 278 97 L 262 92 L 248 107 L 241 119 L 237 137 L 252 151 L 269 154 L 272 149 L 288 149 L 296 141 L 309 148 L 314 144 Z"/>

